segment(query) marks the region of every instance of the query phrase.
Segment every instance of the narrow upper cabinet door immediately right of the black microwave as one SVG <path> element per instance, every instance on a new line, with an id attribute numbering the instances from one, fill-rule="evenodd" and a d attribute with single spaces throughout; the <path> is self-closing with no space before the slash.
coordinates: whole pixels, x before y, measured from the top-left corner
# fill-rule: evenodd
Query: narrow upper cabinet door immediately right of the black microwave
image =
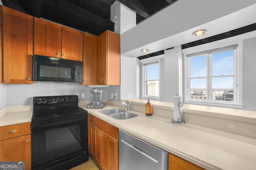
<path id="1" fill-rule="evenodd" d="M 84 82 L 83 85 L 97 84 L 97 40 L 98 37 L 84 33 Z"/>

